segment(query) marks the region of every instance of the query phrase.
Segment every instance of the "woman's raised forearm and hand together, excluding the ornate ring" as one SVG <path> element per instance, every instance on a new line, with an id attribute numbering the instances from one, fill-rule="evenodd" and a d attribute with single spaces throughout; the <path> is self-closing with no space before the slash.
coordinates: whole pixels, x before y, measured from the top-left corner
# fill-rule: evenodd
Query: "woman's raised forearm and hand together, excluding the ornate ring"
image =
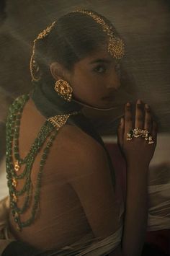
<path id="1" fill-rule="evenodd" d="M 122 237 L 122 255 L 141 255 L 145 242 L 148 219 L 148 167 L 156 148 L 156 124 L 151 110 L 138 101 L 135 110 L 135 128 L 144 128 L 153 135 L 154 144 L 143 138 L 127 141 L 127 133 L 133 128 L 130 106 L 125 107 L 125 120 L 120 123 L 118 144 L 127 162 L 127 197 L 125 223 Z M 117 256 L 112 253 L 109 256 Z"/>

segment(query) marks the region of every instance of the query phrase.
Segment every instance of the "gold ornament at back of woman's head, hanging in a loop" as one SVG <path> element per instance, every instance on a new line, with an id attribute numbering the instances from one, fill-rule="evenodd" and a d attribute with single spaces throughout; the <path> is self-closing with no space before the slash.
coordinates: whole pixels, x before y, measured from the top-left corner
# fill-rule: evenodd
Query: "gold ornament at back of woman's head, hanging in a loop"
<path id="1" fill-rule="evenodd" d="M 39 81 L 40 80 L 39 66 L 37 65 L 37 62 L 35 61 L 35 44 L 36 44 L 37 40 L 43 39 L 44 37 L 46 37 L 50 33 L 50 30 L 52 30 L 55 23 L 56 23 L 56 21 L 53 22 L 52 25 L 47 27 L 45 30 L 40 32 L 40 34 L 34 40 L 34 45 L 33 45 L 33 49 L 32 49 L 32 56 L 31 56 L 31 59 L 30 59 L 30 73 L 31 73 L 33 81 Z"/>

